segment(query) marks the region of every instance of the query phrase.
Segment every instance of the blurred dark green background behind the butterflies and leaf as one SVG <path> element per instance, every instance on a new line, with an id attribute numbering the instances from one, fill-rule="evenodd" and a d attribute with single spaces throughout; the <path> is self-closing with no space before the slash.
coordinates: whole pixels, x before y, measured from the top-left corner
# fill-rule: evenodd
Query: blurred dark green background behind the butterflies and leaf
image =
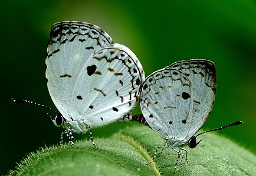
<path id="1" fill-rule="evenodd" d="M 52 124 L 46 110 L 10 100 L 16 97 L 54 107 L 45 83 L 45 53 L 51 26 L 59 21 L 100 26 L 114 42 L 133 50 L 146 76 L 183 59 L 212 60 L 218 88 L 204 129 L 242 120 L 242 126 L 215 133 L 256 153 L 255 1 L 2 0 L 0 8 L 1 175 L 30 151 L 60 141 L 63 129 Z M 139 108 L 134 110 L 137 113 Z M 108 137 L 127 125 L 131 123 L 93 129 L 93 134 Z"/>

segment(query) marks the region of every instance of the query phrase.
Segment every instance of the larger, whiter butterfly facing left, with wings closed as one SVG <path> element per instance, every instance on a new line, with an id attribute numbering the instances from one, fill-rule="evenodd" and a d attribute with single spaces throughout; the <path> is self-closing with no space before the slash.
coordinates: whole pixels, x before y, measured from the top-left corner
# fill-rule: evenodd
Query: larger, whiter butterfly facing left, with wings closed
<path id="1" fill-rule="evenodd" d="M 66 134 L 72 147 L 72 132 L 89 130 L 96 147 L 91 127 L 129 118 L 145 80 L 142 65 L 134 53 L 114 43 L 106 32 L 90 23 L 55 23 L 50 32 L 45 64 L 47 87 L 60 111 L 50 117 L 55 126 L 66 129 L 61 133 L 61 144 Z"/>

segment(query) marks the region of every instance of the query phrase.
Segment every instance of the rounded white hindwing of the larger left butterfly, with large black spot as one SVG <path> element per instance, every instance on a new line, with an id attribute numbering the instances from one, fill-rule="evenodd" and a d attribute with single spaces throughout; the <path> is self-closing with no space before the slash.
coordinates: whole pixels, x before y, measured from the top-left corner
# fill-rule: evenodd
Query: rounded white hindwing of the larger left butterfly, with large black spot
<path id="1" fill-rule="evenodd" d="M 101 48 L 85 63 L 70 101 L 70 117 L 97 127 L 122 119 L 136 103 L 145 76 L 126 46 Z"/>

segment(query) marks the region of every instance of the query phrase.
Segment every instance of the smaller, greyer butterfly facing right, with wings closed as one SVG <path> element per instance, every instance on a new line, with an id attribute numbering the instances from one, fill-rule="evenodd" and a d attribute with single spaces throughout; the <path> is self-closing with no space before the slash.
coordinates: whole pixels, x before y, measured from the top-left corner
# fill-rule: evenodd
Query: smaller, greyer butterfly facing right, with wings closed
<path id="1" fill-rule="evenodd" d="M 187 155 L 187 150 L 182 147 L 189 145 L 190 148 L 195 148 L 202 141 L 196 142 L 197 136 L 242 124 L 242 121 L 237 121 L 195 136 L 211 113 L 215 94 L 215 65 L 209 60 L 193 59 L 175 62 L 152 73 L 143 83 L 140 108 L 146 122 L 142 114 L 134 116 L 133 120 L 148 124 L 157 134 L 165 138 L 166 145 L 158 148 L 163 150 L 170 147 L 178 153 L 175 172 L 180 155 L 184 157 L 183 151 Z M 156 154 L 157 150 L 152 161 Z M 182 159 L 180 167 L 182 167 Z"/>

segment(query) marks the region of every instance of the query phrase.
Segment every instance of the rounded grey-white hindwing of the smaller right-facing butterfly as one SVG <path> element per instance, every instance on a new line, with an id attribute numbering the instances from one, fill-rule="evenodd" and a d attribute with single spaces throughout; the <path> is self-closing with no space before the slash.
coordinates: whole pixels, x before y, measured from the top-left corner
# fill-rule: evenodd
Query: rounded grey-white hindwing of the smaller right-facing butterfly
<path id="1" fill-rule="evenodd" d="M 186 137 L 191 109 L 191 83 L 179 70 L 162 69 L 146 78 L 140 107 L 149 126 L 166 140 Z"/>

